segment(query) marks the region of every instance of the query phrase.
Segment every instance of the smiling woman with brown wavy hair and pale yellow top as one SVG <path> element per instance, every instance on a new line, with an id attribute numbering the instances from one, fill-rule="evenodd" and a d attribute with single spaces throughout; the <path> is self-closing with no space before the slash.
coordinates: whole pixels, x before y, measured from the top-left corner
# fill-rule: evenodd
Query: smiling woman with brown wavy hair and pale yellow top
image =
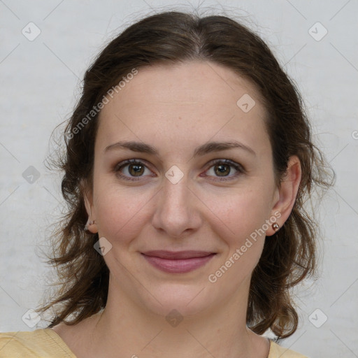
<path id="1" fill-rule="evenodd" d="M 262 334 L 296 331 L 288 290 L 316 265 L 303 202 L 329 182 L 257 35 L 224 16 L 138 21 L 85 73 L 64 138 L 61 287 L 38 309 L 55 315 L 1 334 L 1 357 L 304 357 Z"/>

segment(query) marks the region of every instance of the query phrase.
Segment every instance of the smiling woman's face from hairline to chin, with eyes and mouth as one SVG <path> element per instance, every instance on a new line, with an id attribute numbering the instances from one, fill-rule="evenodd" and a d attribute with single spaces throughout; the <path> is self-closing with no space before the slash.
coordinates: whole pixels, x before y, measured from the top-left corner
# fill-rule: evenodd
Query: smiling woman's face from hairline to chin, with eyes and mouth
<path id="1" fill-rule="evenodd" d="M 138 69 L 110 99 L 85 203 L 92 231 L 111 245 L 103 258 L 113 292 L 163 315 L 247 294 L 280 201 L 265 115 L 252 83 L 208 62 Z M 124 141 L 142 148 L 116 144 Z M 148 259 L 151 250 L 206 258 Z"/>

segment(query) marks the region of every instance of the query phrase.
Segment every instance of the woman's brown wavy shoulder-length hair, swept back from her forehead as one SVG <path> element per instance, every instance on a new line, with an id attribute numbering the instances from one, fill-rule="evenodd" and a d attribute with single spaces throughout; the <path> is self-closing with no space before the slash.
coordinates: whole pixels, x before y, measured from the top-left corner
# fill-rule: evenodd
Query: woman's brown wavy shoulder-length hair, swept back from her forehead
<path id="1" fill-rule="evenodd" d="M 88 219 L 84 192 L 93 185 L 98 113 L 84 126 L 80 122 L 133 69 L 189 60 L 226 66 L 256 85 L 268 113 L 266 127 L 278 185 L 289 157 L 296 155 L 301 161 L 301 183 L 292 213 L 264 243 L 252 273 L 247 311 L 248 327 L 256 334 L 271 329 L 279 339 L 296 331 L 299 317 L 290 289 L 308 275 L 314 276 L 317 266 L 317 224 L 303 204 L 314 188 L 327 189 L 333 178 L 327 180 L 326 162 L 312 142 L 299 91 L 266 43 L 227 16 L 200 17 L 178 11 L 150 15 L 127 27 L 85 72 L 82 95 L 63 133 L 66 150 L 55 162 L 64 172 L 62 194 L 67 211 L 52 236 L 53 257 L 48 260 L 56 266 L 59 288 L 49 303 L 37 309 L 38 313 L 54 310 L 48 327 L 60 322 L 77 324 L 105 308 L 108 296 L 109 270 L 94 250 L 99 236 L 84 231 Z M 65 320 L 71 315 L 73 320 Z"/>

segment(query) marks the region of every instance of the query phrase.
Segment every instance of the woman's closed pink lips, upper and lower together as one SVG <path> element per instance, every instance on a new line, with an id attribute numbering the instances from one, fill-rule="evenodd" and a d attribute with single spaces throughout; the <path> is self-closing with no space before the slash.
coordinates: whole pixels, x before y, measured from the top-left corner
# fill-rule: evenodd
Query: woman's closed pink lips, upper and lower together
<path id="1" fill-rule="evenodd" d="M 161 271 L 167 273 L 186 273 L 196 270 L 210 261 L 216 254 L 206 251 L 164 251 L 141 252 L 143 257 Z"/>

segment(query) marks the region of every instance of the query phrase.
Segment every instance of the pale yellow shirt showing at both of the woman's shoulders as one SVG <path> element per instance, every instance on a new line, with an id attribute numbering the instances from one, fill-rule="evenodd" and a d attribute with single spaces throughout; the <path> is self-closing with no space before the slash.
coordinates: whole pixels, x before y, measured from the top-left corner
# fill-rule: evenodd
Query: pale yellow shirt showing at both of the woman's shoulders
<path id="1" fill-rule="evenodd" d="M 267 358 L 308 358 L 270 341 Z M 76 358 L 51 328 L 0 333 L 0 358 Z"/>

